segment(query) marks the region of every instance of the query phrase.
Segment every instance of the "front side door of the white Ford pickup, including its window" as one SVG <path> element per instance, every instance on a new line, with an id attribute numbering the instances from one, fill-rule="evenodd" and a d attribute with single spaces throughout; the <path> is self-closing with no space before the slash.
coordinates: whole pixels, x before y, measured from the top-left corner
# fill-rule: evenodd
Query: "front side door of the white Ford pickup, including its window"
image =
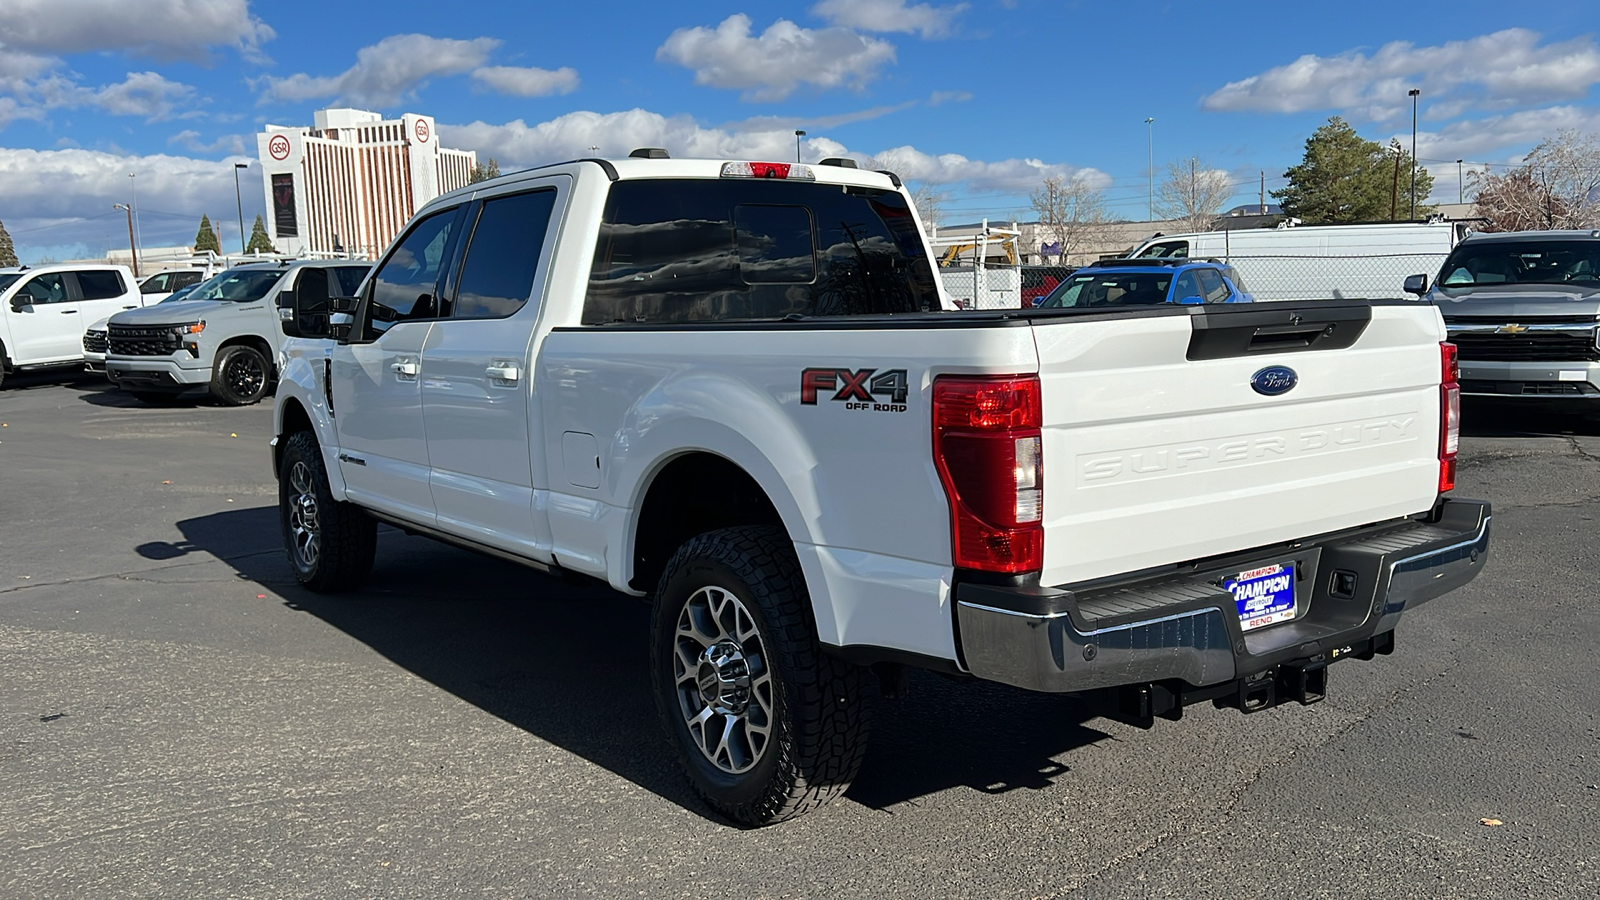
<path id="1" fill-rule="evenodd" d="M 352 500 L 434 524 L 422 432 L 422 343 L 438 319 L 438 282 L 459 232 L 450 208 L 418 219 L 363 287 L 349 343 L 334 349 L 339 472 Z"/>

